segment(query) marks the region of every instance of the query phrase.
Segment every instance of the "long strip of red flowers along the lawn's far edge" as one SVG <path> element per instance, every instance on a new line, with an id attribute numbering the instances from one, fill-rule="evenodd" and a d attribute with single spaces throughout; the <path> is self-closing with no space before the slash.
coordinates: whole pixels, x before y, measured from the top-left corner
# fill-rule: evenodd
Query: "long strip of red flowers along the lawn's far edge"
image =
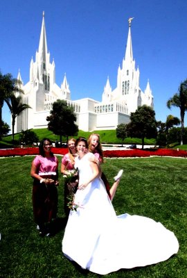
<path id="1" fill-rule="evenodd" d="M 54 154 L 64 155 L 68 152 L 67 148 L 52 148 Z M 132 150 L 109 150 L 104 151 L 105 157 L 149 157 L 149 156 L 175 156 L 187 157 L 187 152 L 177 149 L 132 149 Z M 38 147 L 15 148 L 0 150 L 0 156 L 26 156 L 39 154 Z"/>

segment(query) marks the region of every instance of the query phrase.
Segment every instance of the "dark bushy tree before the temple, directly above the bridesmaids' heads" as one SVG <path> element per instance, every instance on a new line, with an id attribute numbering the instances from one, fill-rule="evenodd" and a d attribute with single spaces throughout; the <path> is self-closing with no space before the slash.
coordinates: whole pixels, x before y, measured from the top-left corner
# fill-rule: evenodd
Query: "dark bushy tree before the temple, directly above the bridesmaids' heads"
<path id="1" fill-rule="evenodd" d="M 48 121 L 48 130 L 53 131 L 55 135 L 60 136 L 60 145 L 62 145 L 62 136 L 66 137 L 66 142 L 69 136 L 78 134 L 78 126 L 75 124 L 77 117 L 72 106 L 68 106 L 66 101 L 57 99 L 53 102 L 51 115 L 46 117 Z"/>

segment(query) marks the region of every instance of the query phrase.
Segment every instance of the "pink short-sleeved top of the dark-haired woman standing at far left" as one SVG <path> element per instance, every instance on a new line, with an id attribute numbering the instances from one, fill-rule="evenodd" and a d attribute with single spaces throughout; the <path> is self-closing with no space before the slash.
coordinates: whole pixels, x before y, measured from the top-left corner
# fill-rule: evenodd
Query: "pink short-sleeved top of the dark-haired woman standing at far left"
<path id="1" fill-rule="evenodd" d="M 37 167 L 40 176 L 44 174 L 56 174 L 57 172 L 57 158 L 36 156 L 34 159 L 35 167 Z"/>

